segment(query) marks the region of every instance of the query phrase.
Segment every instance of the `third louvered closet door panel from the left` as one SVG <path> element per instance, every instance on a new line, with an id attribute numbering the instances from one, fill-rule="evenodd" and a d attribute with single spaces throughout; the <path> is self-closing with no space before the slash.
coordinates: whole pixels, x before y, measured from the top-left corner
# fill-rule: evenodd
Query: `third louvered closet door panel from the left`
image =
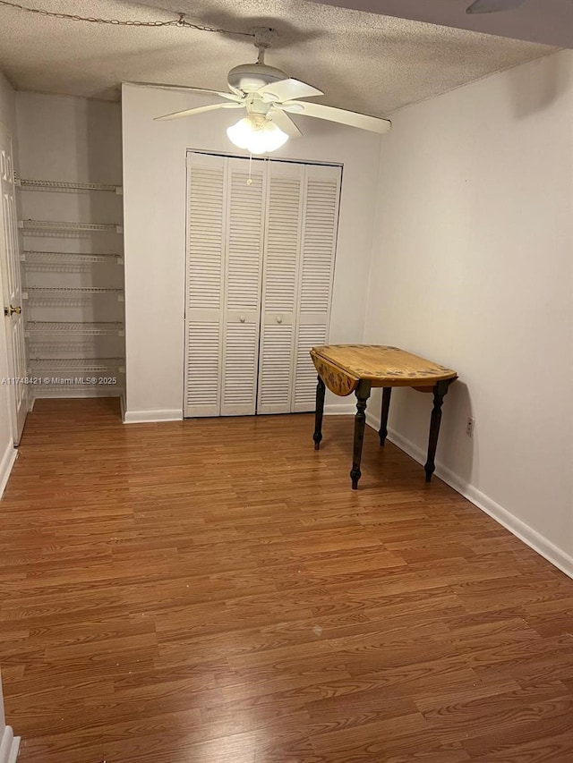
<path id="1" fill-rule="evenodd" d="M 268 163 L 258 413 L 291 410 L 304 165 Z"/>

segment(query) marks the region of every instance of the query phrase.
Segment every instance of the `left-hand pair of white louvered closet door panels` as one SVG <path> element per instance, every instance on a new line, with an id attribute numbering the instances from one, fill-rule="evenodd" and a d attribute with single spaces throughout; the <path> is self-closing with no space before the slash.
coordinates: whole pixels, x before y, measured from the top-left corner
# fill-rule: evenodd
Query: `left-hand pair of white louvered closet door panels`
<path id="1" fill-rule="evenodd" d="M 187 177 L 184 416 L 252 415 L 264 163 L 191 153 Z"/>

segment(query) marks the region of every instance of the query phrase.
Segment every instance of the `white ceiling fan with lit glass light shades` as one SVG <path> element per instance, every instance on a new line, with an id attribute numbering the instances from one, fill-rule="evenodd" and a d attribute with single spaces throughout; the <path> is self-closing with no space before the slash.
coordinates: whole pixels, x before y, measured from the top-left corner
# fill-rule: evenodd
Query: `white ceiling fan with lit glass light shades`
<path id="1" fill-rule="evenodd" d="M 268 66 L 264 62 L 265 51 L 269 47 L 274 31 L 255 30 L 255 47 L 259 56 L 255 64 L 235 66 L 228 73 L 230 92 L 218 92 L 201 88 L 185 88 L 192 93 L 209 94 L 224 98 L 226 103 L 197 106 L 156 117 L 158 122 L 180 119 L 220 108 L 245 109 L 246 115 L 227 129 L 229 140 L 238 148 L 246 148 L 252 154 L 264 154 L 280 148 L 289 138 L 300 138 L 302 132 L 288 114 L 312 116 L 329 122 L 346 124 L 360 130 L 387 132 L 391 127 L 388 119 L 357 114 L 333 106 L 324 106 L 300 98 L 322 96 L 324 93 L 312 85 L 294 80 L 286 72 Z"/>

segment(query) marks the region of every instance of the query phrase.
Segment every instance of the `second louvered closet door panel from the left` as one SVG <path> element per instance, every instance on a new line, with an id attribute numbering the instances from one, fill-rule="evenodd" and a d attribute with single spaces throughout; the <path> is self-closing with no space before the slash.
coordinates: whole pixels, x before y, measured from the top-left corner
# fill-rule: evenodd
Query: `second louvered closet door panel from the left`
<path id="1" fill-rule="evenodd" d="M 256 409 L 265 191 L 264 162 L 227 160 L 222 416 Z"/>

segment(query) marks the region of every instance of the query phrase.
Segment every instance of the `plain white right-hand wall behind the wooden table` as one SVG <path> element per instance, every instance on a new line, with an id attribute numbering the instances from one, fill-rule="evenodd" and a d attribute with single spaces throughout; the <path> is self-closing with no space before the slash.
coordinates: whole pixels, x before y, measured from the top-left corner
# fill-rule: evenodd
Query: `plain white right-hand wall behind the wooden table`
<path id="1" fill-rule="evenodd" d="M 364 335 L 458 370 L 438 473 L 569 574 L 572 123 L 569 51 L 394 115 Z M 430 409 L 393 394 L 394 440 L 417 458 Z"/>

